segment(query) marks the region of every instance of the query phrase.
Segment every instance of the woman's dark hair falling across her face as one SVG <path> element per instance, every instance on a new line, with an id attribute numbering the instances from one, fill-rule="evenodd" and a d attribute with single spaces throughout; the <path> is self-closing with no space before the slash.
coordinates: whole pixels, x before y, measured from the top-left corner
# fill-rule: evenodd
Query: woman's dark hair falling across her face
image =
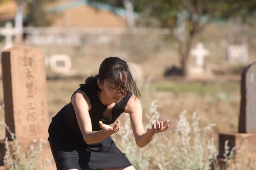
<path id="1" fill-rule="evenodd" d="M 131 68 L 127 65 L 126 61 L 118 57 L 105 58 L 100 64 L 98 75 L 87 78 L 86 84 L 91 84 L 97 88 L 97 90 L 100 90 L 97 84 L 98 79 L 101 81 L 109 79 L 111 83 L 116 85 L 121 94 L 130 91 L 136 98 L 140 98 L 141 96 L 132 75 Z"/>

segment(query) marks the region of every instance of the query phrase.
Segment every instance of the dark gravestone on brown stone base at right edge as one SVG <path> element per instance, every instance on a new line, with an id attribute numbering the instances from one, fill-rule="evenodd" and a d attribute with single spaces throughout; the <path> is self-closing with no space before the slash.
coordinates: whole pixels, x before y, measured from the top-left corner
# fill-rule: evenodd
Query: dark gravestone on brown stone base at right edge
<path id="1" fill-rule="evenodd" d="M 256 143 L 256 62 L 248 65 L 242 72 L 239 132 L 219 134 L 220 162 L 227 161 L 224 157 L 227 140 L 230 150 L 235 148 L 234 159 L 247 163 L 256 160 L 256 150 L 253 147 Z"/>

